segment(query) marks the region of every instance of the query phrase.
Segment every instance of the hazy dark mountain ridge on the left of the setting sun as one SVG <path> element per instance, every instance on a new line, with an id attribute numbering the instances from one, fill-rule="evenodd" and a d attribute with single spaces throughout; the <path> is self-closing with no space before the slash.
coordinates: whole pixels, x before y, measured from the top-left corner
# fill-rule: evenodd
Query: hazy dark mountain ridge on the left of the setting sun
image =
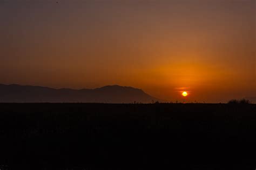
<path id="1" fill-rule="evenodd" d="M 118 85 L 74 90 L 0 84 L 0 102 L 6 103 L 133 103 L 134 101 L 151 103 L 160 100 L 144 93 L 141 89 Z"/>

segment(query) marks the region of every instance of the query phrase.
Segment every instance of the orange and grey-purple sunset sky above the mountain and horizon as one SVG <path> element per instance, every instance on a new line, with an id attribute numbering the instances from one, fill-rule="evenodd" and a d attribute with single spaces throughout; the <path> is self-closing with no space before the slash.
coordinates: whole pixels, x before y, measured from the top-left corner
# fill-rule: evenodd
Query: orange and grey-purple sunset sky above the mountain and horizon
<path id="1" fill-rule="evenodd" d="M 254 0 L 1 0 L 0 83 L 254 97 L 255 11 Z"/>

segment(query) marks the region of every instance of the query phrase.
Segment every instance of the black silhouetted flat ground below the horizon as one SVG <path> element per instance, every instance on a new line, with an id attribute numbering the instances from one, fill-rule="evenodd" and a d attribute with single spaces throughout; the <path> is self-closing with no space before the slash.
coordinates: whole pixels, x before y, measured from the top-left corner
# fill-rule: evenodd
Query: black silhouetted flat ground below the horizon
<path id="1" fill-rule="evenodd" d="M 255 169 L 255 104 L 0 103 L 0 169 Z"/>

